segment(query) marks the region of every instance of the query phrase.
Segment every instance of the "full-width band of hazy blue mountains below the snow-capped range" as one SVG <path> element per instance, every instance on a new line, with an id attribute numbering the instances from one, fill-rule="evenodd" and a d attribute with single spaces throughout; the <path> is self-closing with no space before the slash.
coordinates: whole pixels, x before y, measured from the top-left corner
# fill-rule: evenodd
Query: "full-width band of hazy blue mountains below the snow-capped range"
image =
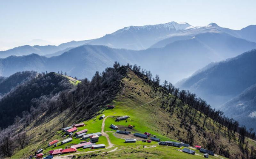
<path id="1" fill-rule="evenodd" d="M 231 58 L 253 48 L 256 48 L 256 43 L 220 33 L 199 34 L 187 40 L 175 41 L 162 48 L 138 51 L 84 45 L 63 54 L 62 52 L 52 54 L 56 56 L 51 58 L 34 54 L 0 59 L 0 76 L 8 77 L 17 71 L 35 70 L 63 71 L 73 77 L 91 78 L 95 71 L 103 71 L 114 61 L 118 61 L 121 64 L 137 63 L 175 83 L 189 77 L 208 63 Z"/>

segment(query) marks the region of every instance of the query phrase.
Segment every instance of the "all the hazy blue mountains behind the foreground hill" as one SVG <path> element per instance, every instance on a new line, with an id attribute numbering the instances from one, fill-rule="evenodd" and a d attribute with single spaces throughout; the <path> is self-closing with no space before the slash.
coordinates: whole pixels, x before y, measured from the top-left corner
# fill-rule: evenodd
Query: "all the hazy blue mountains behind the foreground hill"
<path id="1" fill-rule="evenodd" d="M 240 93 L 256 84 L 255 50 L 240 55 L 251 49 L 256 49 L 256 25 L 241 30 L 215 23 L 202 27 L 177 22 L 130 26 L 92 40 L 2 51 L 0 76 L 34 70 L 63 71 L 79 79 L 90 79 L 95 71 L 103 71 L 114 61 L 136 63 L 172 83 L 196 72 L 177 85 L 196 92 L 213 107 L 224 107 L 227 101 L 239 98 Z"/>

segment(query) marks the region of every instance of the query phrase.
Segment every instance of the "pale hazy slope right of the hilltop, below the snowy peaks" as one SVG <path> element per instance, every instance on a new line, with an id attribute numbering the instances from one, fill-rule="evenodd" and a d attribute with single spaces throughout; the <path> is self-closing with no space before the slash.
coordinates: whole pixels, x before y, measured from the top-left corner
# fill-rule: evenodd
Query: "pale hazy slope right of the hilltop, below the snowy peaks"
<path id="1" fill-rule="evenodd" d="M 142 60 L 137 63 L 176 83 L 211 62 L 235 57 L 253 48 L 256 43 L 226 33 L 203 33 L 162 48 L 142 50 L 138 54 L 143 55 Z"/>

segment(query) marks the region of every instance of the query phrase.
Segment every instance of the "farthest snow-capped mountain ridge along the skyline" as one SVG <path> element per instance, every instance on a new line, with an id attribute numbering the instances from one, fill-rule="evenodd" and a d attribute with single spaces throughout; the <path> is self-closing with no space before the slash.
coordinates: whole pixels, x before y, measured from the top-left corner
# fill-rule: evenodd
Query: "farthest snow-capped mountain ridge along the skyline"
<path id="1" fill-rule="evenodd" d="M 232 30 L 219 27 L 215 23 L 210 23 L 203 27 L 193 27 L 185 22 L 169 22 L 159 25 L 124 27 L 101 38 L 84 41 L 71 41 L 60 44 L 59 46 L 25 45 L 15 47 L 6 51 L 0 51 L 0 58 L 6 58 L 11 55 L 29 55 L 31 53 L 51 57 L 61 55 L 63 52 L 83 44 L 105 45 L 119 49 L 142 50 L 148 49 L 149 47 L 165 47 L 174 41 L 190 39 L 202 33 L 226 33 L 236 38 L 256 42 L 256 25 L 250 25 L 241 30 Z"/>

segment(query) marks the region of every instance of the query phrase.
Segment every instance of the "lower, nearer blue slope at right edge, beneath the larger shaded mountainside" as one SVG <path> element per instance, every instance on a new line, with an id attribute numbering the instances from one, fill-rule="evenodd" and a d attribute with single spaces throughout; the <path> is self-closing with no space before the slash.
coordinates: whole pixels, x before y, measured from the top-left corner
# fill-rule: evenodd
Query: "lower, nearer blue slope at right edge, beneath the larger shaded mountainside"
<path id="1" fill-rule="evenodd" d="M 247 128 L 256 130 L 256 84 L 223 104 L 220 110 Z"/>

